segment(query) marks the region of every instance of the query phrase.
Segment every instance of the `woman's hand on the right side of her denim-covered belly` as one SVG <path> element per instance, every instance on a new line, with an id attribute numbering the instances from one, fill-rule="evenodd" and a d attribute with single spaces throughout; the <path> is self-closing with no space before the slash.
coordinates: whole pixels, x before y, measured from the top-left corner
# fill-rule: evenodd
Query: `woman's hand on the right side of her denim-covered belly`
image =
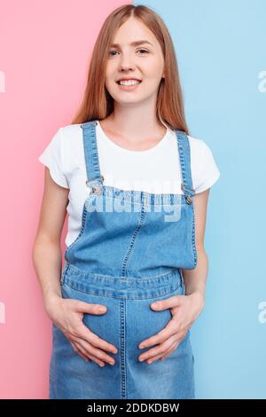
<path id="1" fill-rule="evenodd" d="M 139 344 L 140 349 L 156 344 L 138 358 L 141 361 L 145 360 L 148 364 L 157 359 L 163 360 L 173 350 L 176 350 L 194 321 L 199 317 L 200 311 L 204 307 L 204 297 L 200 292 L 194 292 L 191 295 L 174 295 L 156 304 L 158 304 L 157 308 L 155 308 L 155 303 L 151 304 L 154 311 L 170 309 L 172 319 L 168 322 L 167 327 L 160 330 L 158 334 Z"/>

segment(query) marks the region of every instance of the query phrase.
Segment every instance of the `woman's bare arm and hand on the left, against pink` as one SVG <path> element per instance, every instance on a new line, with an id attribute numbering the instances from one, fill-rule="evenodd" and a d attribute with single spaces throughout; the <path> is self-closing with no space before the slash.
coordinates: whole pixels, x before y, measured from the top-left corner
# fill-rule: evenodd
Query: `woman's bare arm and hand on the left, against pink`
<path id="1" fill-rule="evenodd" d="M 35 272 L 43 290 L 44 309 L 84 360 L 93 360 L 98 366 L 105 366 L 106 363 L 113 365 L 113 358 L 106 352 L 117 353 L 115 346 L 92 333 L 82 321 L 84 313 L 103 315 L 106 307 L 63 298 L 61 294 L 60 239 L 66 217 L 68 193 L 68 189 L 53 181 L 50 170 L 45 167 L 43 202 L 32 252 Z M 100 307 L 104 307 L 104 311 L 100 311 Z"/>

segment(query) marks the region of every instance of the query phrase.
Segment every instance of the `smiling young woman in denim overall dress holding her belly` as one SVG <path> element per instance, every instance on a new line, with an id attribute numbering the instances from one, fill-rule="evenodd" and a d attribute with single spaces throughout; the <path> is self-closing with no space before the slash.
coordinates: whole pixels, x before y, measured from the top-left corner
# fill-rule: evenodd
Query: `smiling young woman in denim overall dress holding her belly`
<path id="1" fill-rule="evenodd" d="M 189 136 L 174 46 L 153 10 L 107 17 L 82 106 L 39 161 L 33 260 L 52 321 L 50 398 L 194 398 L 190 328 L 220 172 Z"/>

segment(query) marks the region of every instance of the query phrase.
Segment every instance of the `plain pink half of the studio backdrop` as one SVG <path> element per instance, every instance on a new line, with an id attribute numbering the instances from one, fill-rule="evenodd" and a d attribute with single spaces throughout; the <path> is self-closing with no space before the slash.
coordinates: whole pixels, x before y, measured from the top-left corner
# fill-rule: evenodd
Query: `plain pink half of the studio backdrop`
<path id="1" fill-rule="evenodd" d="M 74 116 L 103 21 L 130 2 L 93 3 L 1 1 L 1 398 L 48 397 L 51 320 L 32 264 L 44 176 L 37 158 Z M 65 237 L 66 223 L 63 251 Z"/>

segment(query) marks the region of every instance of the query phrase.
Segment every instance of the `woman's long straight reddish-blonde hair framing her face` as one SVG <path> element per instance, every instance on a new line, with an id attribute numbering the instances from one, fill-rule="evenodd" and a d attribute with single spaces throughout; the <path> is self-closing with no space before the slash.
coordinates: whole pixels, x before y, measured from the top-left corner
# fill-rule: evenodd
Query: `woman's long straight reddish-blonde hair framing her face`
<path id="1" fill-rule="evenodd" d="M 160 43 L 165 62 L 165 78 L 160 81 L 156 116 L 160 123 L 170 129 L 189 130 L 185 122 L 183 92 L 180 84 L 176 52 L 168 28 L 160 16 L 145 5 L 125 4 L 115 9 L 104 21 L 94 45 L 87 85 L 82 104 L 71 124 L 105 119 L 113 113 L 113 98 L 105 87 L 106 61 L 113 40 L 113 33 L 130 16 L 141 20 Z"/>

